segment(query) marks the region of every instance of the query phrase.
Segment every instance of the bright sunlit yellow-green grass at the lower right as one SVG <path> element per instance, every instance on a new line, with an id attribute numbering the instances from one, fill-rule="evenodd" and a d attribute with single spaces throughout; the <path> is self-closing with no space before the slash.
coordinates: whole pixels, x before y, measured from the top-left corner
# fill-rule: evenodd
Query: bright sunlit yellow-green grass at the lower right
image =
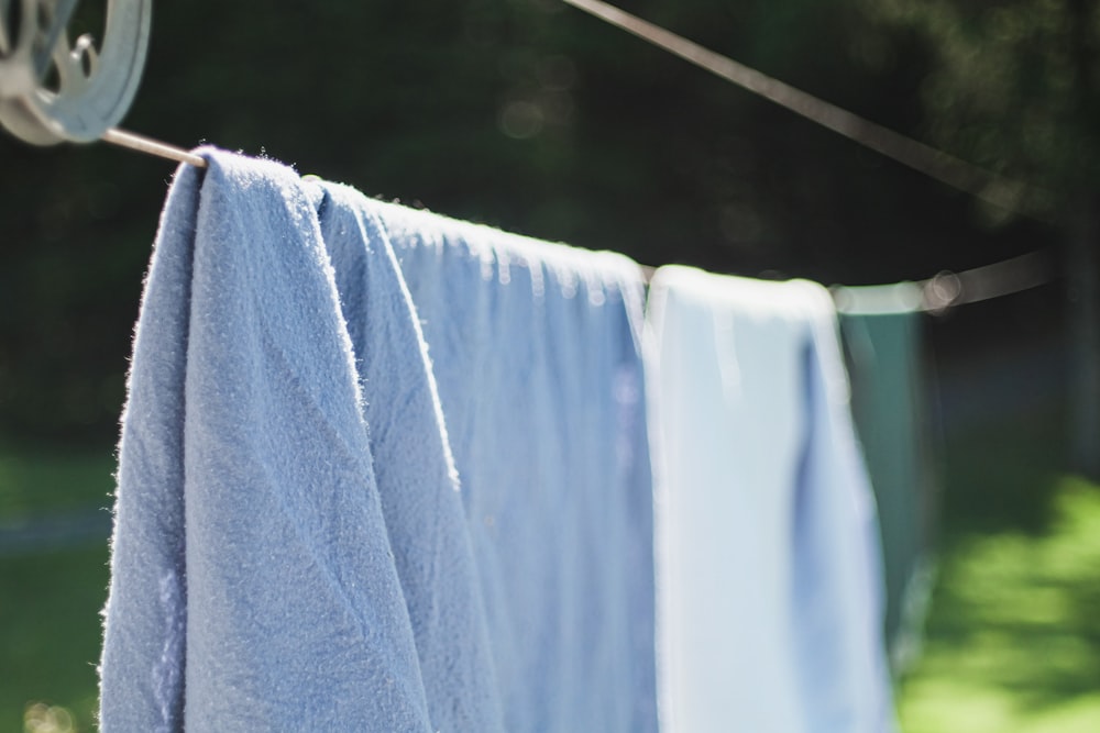
<path id="1" fill-rule="evenodd" d="M 1100 488 L 1064 478 L 1042 532 L 972 534 L 944 555 L 904 733 L 1100 730 Z"/>

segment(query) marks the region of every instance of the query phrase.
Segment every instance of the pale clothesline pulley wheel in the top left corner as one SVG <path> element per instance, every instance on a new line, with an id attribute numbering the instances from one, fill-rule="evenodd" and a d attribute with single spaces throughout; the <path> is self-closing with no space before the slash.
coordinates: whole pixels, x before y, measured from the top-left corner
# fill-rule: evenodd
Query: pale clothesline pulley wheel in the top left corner
<path id="1" fill-rule="evenodd" d="M 69 44 L 77 0 L 0 0 L 0 124 L 35 145 L 98 140 L 127 113 L 148 48 L 152 0 L 108 0 L 103 42 Z M 56 69 L 56 88 L 46 88 Z"/>

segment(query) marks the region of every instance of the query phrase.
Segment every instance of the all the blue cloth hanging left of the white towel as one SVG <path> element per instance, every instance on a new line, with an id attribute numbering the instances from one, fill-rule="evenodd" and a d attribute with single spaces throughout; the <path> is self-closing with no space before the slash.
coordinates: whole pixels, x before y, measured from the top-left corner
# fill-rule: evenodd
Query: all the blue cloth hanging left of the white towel
<path id="1" fill-rule="evenodd" d="M 637 265 L 204 155 L 135 336 L 102 729 L 653 730 Z"/>

